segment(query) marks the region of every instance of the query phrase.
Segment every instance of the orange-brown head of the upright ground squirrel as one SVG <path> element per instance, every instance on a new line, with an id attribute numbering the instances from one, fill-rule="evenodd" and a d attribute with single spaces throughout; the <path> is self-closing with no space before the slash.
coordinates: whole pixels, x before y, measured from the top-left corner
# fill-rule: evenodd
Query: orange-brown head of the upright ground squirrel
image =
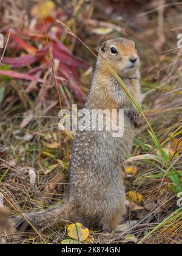
<path id="1" fill-rule="evenodd" d="M 119 37 L 108 40 L 99 48 L 99 61 L 102 57 L 120 76 L 132 77 L 140 66 L 140 59 L 132 40 Z"/>

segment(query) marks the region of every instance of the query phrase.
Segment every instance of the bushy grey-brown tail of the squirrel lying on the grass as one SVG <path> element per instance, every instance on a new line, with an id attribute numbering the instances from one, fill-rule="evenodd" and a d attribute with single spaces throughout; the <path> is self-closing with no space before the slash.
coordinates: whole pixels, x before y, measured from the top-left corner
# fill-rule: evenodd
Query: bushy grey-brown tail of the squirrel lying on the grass
<path id="1" fill-rule="evenodd" d="M 13 218 L 12 221 L 15 228 L 22 232 L 24 232 L 29 226 L 42 231 L 56 226 L 56 224 L 59 224 L 61 221 L 69 221 L 72 208 L 72 203 L 67 201 L 56 208 L 49 208 L 48 210 L 45 210 L 45 212 L 25 213 L 25 218 L 17 216 Z"/>

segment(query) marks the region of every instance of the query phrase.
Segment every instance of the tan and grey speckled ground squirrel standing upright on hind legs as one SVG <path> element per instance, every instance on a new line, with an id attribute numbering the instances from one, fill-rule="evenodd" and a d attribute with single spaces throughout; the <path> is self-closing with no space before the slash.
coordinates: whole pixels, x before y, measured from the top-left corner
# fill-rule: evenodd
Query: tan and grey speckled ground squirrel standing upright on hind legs
<path id="1" fill-rule="evenodd" d="M 109 72 L 106 61 L 123 79 L 127 89 L 141 104 L 140 58 L 135 43 L 126 38 L 108 40 L 99 48 L 95 74 L 85 108 L 123 109 L 124 135 L 114 138 L 111 131 L 78 131 L 72 149 L 70 187 L 67 201 L 45 212 L 27 213 L 26 218 L 40 230 L 62 220 L 98 224 L 103 230 L 116 228 L 126 214 L 123 181 L 124 155 L 132 149 L 136 113 L 127 94 Z M 14 219 L 16 226 L 25 222 Z"/>

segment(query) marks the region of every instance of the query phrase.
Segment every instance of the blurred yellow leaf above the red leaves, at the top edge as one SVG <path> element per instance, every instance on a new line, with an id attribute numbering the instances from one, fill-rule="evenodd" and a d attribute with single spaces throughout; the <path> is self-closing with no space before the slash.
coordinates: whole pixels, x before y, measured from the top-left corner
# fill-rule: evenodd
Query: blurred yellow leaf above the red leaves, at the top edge
<path id="1" fill-rule="evenodd" d="M 32 7 L 31 13 L 35 18 L 47 18 L 52 15 L 53 10 L 55 10 L 55 3 L 47 0 L 40 4 L 35 4 Z"/>

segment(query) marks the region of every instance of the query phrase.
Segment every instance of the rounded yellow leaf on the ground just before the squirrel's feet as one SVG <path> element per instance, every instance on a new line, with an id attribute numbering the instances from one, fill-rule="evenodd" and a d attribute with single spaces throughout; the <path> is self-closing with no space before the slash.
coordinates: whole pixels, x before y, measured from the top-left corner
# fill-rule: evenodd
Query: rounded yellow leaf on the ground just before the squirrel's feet
<path id="1" fill-rule="evenodd" d="M 71 224 L 67 228 L 68 235 L 78 241 L 84 241 L 89 236 L 89 229 L 83 226 L 81 223 Z"/>

